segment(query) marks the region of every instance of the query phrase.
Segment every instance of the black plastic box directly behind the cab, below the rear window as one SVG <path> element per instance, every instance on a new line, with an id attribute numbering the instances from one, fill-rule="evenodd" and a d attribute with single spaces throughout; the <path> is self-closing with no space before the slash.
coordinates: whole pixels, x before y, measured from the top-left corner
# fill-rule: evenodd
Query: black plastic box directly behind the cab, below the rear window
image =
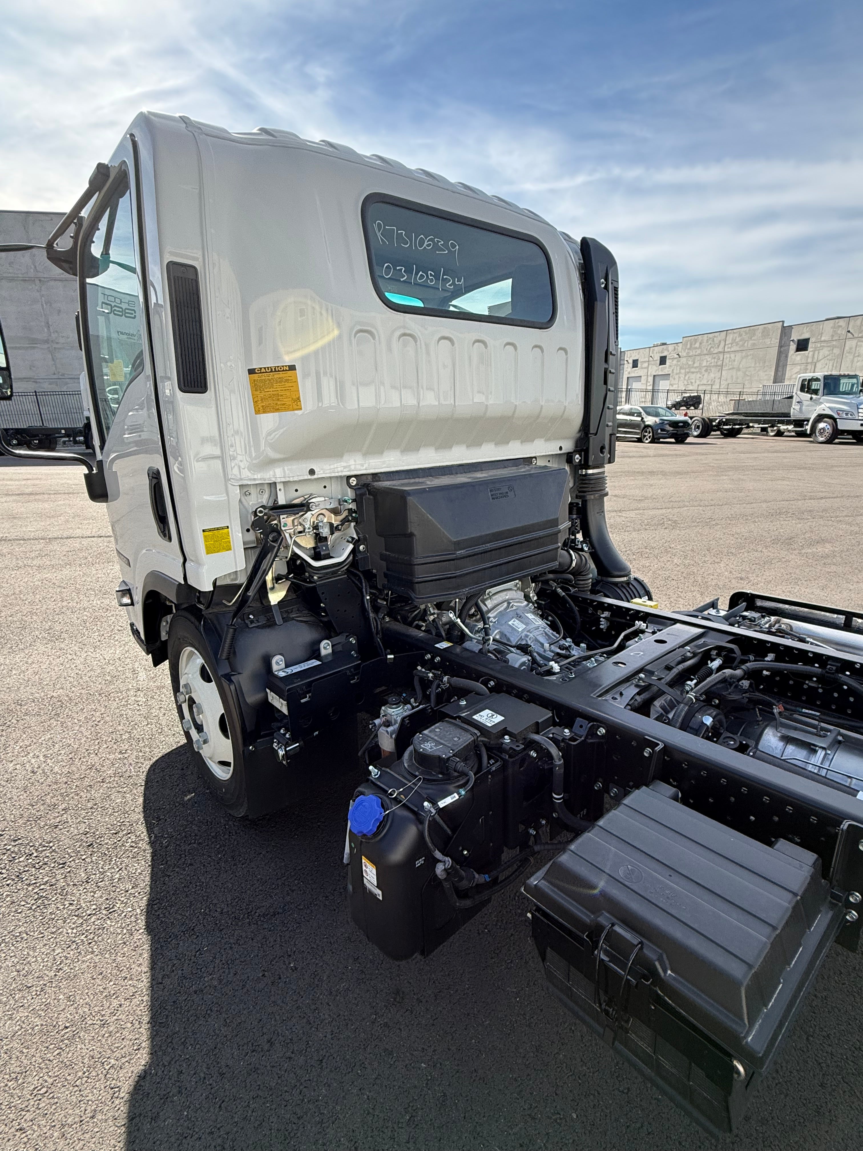
<path id="1" fill-rule="evenodd" d="M 429 603 L 553 567 L 568 503 L 564 467 L 394 479 L 369 485 L 360 529 L 381 585 Z"/>

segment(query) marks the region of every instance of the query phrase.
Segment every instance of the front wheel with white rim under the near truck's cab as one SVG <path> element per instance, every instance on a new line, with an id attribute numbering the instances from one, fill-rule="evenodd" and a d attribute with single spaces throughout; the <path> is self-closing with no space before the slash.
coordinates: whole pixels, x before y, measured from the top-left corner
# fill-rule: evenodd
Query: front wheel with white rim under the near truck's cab
<path id="1" fill-rule="evenodd" d="M 245 815 L 243 721 L 198 620 L 183 611 L 170 622 L 168 664 L 180 722 L 200 775 L 222 807 Z"/>

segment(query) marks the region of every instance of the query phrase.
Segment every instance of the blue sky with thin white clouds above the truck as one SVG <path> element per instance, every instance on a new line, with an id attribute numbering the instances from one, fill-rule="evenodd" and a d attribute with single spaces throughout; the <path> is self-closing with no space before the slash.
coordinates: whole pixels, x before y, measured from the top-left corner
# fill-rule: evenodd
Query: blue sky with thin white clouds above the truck
<path id="1" fill-rule="evenodd" d="M 863 311 L 863 5 L 0 3 L 0 207 L 142 108 L 341 140 L 618 257 L 626 346 Z"/>

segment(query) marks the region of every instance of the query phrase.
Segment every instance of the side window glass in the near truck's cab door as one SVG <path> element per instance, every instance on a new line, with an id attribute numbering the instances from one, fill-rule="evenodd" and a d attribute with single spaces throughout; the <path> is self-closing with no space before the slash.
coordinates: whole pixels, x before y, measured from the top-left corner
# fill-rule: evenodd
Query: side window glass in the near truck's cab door
<path id="1" fill-rule="evenodd" d="M 135 257 L 132 200 L 125 178 L 105 206 L 83 254 L 86 337 L 102 434 L 120 401 L 144 371 L 142 302 Z"/>

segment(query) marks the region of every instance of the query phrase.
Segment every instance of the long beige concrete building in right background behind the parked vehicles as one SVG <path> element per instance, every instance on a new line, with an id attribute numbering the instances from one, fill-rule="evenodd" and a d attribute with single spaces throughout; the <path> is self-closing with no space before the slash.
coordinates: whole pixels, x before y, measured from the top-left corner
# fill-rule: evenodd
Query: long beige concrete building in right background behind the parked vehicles
<path id="1" fill-rule="evenodd" d="M 621 358 L 621 403 L 666 403 L 670 394 L 770 394 L 805 372 L 863 374 L 863 315 L 705 331 L 633 348 Z"/>

